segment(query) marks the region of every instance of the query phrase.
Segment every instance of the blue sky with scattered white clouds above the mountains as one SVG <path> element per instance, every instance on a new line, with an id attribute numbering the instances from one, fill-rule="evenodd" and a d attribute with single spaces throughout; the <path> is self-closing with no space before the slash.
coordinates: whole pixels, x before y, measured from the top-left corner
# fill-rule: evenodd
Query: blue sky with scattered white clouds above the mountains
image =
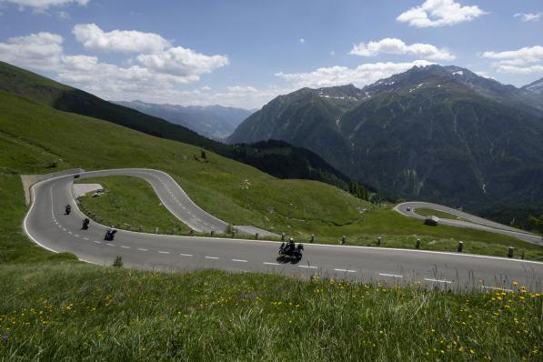
<path id="1" fill-rule="evenodd" d="M 543 77 L 540 0 L 0 0 L 0 59 L 113 100 L 256 108 L 413 65 Z"/>

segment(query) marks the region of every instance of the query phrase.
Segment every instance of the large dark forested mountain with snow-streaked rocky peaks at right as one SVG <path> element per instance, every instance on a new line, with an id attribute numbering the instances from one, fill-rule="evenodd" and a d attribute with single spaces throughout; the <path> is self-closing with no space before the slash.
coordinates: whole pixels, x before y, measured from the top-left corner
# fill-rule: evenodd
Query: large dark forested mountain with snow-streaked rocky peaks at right
<path id="1" fill-rule="evenodd" d="M 540 200 L 542 85 L 502 85 L 458 66 L 413 67 L 363 89 L 278 96 L 227 141 L 283 140 L 409 198 L 470 208 Z"/>

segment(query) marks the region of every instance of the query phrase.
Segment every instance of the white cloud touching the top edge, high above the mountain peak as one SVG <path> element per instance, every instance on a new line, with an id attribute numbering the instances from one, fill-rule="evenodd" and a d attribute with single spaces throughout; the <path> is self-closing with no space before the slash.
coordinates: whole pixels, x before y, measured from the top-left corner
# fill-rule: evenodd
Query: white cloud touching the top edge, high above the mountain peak
<path id="1" fill-rule="evenodd" d="M 397 16 L 397 21 L 411 26 L 445 26 L 472 21 L 486 13 L 477 5 L 462 6 L 454 0 L 426 0 Z"/>

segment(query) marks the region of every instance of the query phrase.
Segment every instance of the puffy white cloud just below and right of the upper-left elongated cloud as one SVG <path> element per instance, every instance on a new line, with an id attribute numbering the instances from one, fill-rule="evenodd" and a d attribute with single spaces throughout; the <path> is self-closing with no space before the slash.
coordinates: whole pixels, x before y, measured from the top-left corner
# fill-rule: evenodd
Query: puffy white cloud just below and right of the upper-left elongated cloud
<path id="1" fill-rule="evenodd" d="M 137 55 L 136 60 L 156 72 L 187 77 L 195 82 L 199 75 L 228 65 L 226 55 L 203 55 L 182 46 L 156 54 Z"/>

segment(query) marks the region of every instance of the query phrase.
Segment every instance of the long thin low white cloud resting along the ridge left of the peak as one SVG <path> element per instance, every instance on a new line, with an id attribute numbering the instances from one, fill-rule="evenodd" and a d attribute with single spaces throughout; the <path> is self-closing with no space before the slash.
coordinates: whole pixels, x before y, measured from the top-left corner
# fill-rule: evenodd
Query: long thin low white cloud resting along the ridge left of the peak
<path id="1" fill-rule="evenodd" d="M 390 75 L 405 72 L 413 66 L 425 66 L 433 63 L 426 60 L 417 60 L 410 63 L 368 63 L 358 65 L 356 68 L 347 66 L 331 66 L 318 68 L 308 73 L 277 73 L 280 78 L 291 82 L 297 88 L 308 86 L 319 88 L 323 86 L 354 84 L 359 87 L 369 85 Z"/>

